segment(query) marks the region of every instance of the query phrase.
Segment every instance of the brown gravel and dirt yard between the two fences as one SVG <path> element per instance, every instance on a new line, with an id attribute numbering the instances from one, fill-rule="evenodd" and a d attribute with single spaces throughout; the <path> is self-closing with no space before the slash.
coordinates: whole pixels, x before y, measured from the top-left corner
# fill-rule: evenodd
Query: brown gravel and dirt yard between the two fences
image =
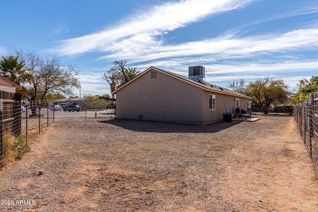
<path id="1" fill-rule="evenodd" d="M 293 117 L 260 118 L 56 119 L 0 171 L 0 211 L 318 211 L 318 180 Z"/>

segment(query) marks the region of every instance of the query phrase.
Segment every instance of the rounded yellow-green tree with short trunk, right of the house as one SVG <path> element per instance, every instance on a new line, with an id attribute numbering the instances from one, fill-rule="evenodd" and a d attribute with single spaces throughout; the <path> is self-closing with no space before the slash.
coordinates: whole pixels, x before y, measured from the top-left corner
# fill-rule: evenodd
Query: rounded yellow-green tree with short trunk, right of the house
<path id="1" fill-rule="evenodd" d="M 285 103 L 291 94 L 288 85 L 282 79 L 275 80 L 268 77 L 250 82 L 246 91 L 253 104 L 264 107 L 265 114 L 268 114 L 268 107 L 271 104 Z"/>

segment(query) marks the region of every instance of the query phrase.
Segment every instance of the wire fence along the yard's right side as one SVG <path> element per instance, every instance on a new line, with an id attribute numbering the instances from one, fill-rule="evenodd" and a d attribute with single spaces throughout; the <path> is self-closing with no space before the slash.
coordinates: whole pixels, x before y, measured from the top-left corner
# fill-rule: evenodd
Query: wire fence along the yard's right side
<path id="1" fill-rule="evenodd" d="M 294 106 L 294 118 L 318 176 L 318 93 Z"/>

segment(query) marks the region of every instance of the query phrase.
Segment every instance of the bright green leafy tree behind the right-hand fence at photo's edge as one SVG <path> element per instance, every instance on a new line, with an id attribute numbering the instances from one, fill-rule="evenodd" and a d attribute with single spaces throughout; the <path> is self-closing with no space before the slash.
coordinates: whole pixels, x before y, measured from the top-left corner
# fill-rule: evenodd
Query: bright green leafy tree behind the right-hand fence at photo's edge
<path id="1" fill-rule="evenodd" d="M 312 76 L 308 81 L 306 78 L 303 78 L 299 81 L 298 92 L 292 96 L 292 100 L 295 103 L 306 101 L 310 98 L 312 93 L 318 92 L 318 76 Z"/>

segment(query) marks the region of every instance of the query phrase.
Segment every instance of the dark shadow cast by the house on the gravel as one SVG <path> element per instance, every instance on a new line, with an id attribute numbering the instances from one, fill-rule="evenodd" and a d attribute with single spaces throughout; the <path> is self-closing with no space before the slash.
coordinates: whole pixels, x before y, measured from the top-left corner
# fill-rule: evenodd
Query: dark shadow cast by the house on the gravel
<path id="1" fill-rule="evenodd" d="M 171 122 L 138 121 L 115 119 L 101 121 L 100 123 L 110 124 L 126 130 L 151 133 L 215 133 L 231 128 L 241 122 L 216 122 L 209 125 L 191 125 Z"/>

